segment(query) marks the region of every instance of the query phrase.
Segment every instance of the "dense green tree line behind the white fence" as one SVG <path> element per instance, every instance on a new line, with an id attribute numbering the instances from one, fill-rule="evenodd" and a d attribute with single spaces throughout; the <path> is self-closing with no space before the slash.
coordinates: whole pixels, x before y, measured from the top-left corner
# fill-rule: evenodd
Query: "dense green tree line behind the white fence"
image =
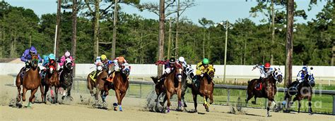
<path id="1" fill-rule="evenodd" d="M 63 10 L 73 7 L 71 1 L 61 2 Z M 106 5 L 105 8 L 94 8 L 97 4 Z M 155 9 L 158 5 L 152 3 L 139 4 L 139 1 L 125 0 L 119 4 L 158 13 L 158 9 Z M 192 1 L 166 1 L 165 10 L 171 11 L 165 12 L 164 59 L 184 56 L 188 63 L 195 64 L 205 57 L 214 64 L 223 64 L 224 25 L 207 18 L 200 18 L 198 23 L 194 23 L 187 16 L 182 17 L 183 11 L 192 6 L 195 6 Z M 283 6 L 284 10 L 276 9 L 278 6 Z M 315 19 L 295 23 L 293 65 L 334 65 L 334 6 L 334 2 L 329 1 Z M 98 3 L 78 1 L 75 9 L 78 12 L 76 27 L 73 25 L 73 12 L 60 11 L 57 29 L 59 54 L 73 51 L 73 30 L 76 28 L 76 63 L 92 63 L 95 56 L 106 54 L 112 57 L 113 52 L 116 56 L 125 56 L 130 63 L 154 63 L 158 60 L 159 20 L 125 13 L 118 5 L 119 11 L 114 12 L 114 8 L 114 0 Z M 271 61 L 272 65 L 285 65 L 285 3 L 259 2 L 250 8 L 250 13 L 254 16 L 265 14 L 266 19 L 260 24 L 249 18 L 230 22 L 233 29 L 228 30 L 227 64 L 253 65 Z M 117 26 L 114 25 L 114 15 Z M 296 10 L 294 15 L 307 17 L 305 11 L 300 10 Z M 41 54 L 53 53 L 56 23 L 57 13 L 44 14 L 39 18 L 31 9 L 11 6 L 2 1 L 0 58 L 18 58 L 30 45 L 36 46 Z M 116 42 L 115 51 L 112 51 L 114 33 Z"/>

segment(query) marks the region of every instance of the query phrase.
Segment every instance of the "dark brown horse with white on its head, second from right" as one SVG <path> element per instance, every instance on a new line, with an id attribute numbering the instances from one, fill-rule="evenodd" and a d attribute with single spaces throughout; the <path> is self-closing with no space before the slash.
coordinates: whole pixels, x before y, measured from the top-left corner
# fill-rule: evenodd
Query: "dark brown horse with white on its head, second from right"
<path id="1" fill-rule="evenodd" d="M 270 117 L 269 110 L 270 110 L 271 102 L 274 102 L 274 96 L 276 95 L 276 92 L 277 92 L 276 81 L 278 81 L 279 83 L 282 82 L 283 75 L 280 69 L 276 70 L 275 68 L 275 70 L 271 72 L 271 75 L 269 77 L 262 79 L 261 87 L 264 87 L 264 88 L 261 90 L 255 89 L 257 80 L 258 79 L 252 79 L 251 81 L 248 82 L 247 99 L 245 100 L 245 102 L 248 103 L 248 101 L 253 96 L 254 96 L 254 101 L 252 101 L 252 103 L 254 104 L 256 103 L 256 98 L 268 98 L 269 101 L 268 101 L 268 106 L 266 108 L 267 110 L 266 114 L 268 117 Z"/>

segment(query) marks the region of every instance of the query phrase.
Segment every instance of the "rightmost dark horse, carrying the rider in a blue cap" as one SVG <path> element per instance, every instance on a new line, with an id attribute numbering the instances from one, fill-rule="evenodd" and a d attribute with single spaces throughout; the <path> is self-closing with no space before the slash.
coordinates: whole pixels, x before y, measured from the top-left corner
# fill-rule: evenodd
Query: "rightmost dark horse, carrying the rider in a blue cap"
<path id="1" fill-rule="evenodd" d="M 306 74 L 305 75 L 305 81 L 301 82 L 298 85 L 298 89 L 295 91 L 291 91 L 293 88 L 295 88 L 295 86 L 298 84 L 298 81 L 295 81 L 293 83 L 291 83 L 289 85 L 288 88 L 288 93 L 286 93 L 286 96 L 284 98 L 284 100 L 286 101 L 286 98 L 290 97 L 290 96 L 294 96 L 295 98 L 293 98 L 293 102 L 291 102 L 290 104 L 293 104 L 294 101 L 298 101 L 298 113 L 300 113 L 300 101 L 304 98 L 307 98 L 308 101 L 308 113 L 310 113 L 310 115 L 313 115 L 313 111 L 312 111 L 312 87 L 314 87 L 315 82 L 314 82 L 314 77 L 312 77 L 311 75 Z"/>

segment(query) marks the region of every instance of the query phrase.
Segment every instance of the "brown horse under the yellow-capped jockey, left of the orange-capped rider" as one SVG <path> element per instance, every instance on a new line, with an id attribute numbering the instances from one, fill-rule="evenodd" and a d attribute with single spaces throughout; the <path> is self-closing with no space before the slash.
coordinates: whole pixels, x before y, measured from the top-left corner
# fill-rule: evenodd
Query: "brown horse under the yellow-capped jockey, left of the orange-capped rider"
<path id="1" fill-rule="evenodd" d="M 104 88 L 105 88 L 105 83 L 107 82 L 107 76 L 108 76 L 108 71 L 110 70 L 110 66 L 102 66 L 102 72 L 99 72 L 100 74 L 98 75 L 95 81 L 90 78 L 91 73 L 87 76 L 87 87 L 90 90 L 90 95 L 95 96 L 95 100 L 99 101 L 98 95 L 101 96 L 102 102 L 105 102 L 105 96 L 104 96 Z M 93 88 L 95 87 L 96 91 L 95 94 L 93 94 Z"/>

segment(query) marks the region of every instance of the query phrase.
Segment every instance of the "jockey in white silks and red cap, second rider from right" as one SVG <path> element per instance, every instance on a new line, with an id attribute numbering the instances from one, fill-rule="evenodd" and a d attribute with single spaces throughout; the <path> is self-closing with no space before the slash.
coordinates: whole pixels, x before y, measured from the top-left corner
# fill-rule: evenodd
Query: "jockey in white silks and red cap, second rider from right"
<path id="1" fill-rule="evenodd" d="M 254 68 L 252 69 L 254 70 L 256 68 L 259 68 L 259 72 L 261 73 L 256 84 L 256 89 L 259 89 L 261 80 L 271 75 L 271 72 L 274 70 L 274 68 L 271 68 L 270 66 L 271 66 L 270 63 L 265 63 L 264 65 L 255 65 Z"/>

